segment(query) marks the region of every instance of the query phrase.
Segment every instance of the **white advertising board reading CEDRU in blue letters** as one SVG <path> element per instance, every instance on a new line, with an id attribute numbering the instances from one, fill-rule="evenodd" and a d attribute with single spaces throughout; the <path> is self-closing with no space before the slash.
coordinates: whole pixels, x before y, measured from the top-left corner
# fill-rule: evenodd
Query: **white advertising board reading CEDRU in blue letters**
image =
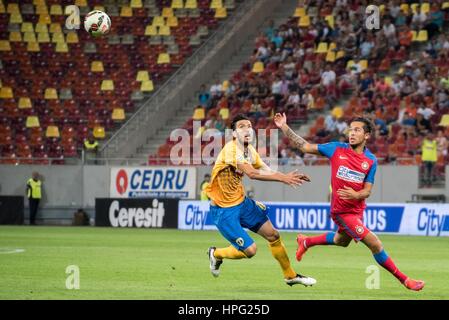
<path id="1" fill-rule="evenodd" d="M 111 168 L 110 197 L 195 199 L 196 169 Z"/>

